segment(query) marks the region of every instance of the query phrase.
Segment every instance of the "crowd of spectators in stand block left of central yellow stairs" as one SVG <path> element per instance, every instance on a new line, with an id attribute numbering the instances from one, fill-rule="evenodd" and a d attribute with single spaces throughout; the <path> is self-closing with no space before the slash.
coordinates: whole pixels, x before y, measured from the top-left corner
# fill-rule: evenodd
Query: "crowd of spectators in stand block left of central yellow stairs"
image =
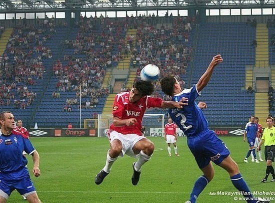
<path id="1" fill-rule="evenodd" d="M 79 98 L 81 87 L 82 108 L 93 108 L 98 99 L 109 93 L 108 88 L 102 88 L 106 68 L 116 65 L 125 57 L 125 49 L 130 49 L 132 38 L 126 38 L 128 19 L 123 22 L 103 16 L 80 17 L 76 23 L 79 31 L 75 40 L 65 40 L 66 48 L 74 49 L 73 54 L 64 54 L 64 64 L 57 60 L 53 72 L 58 79 L 56 89 L 59 92 L 75 91 Z M 84 55 L 80 57 L 79 55 Z M 65 64 L 66 62 L 66 64 Z M 67 104 L 66 104 L 67 105 Z"/>

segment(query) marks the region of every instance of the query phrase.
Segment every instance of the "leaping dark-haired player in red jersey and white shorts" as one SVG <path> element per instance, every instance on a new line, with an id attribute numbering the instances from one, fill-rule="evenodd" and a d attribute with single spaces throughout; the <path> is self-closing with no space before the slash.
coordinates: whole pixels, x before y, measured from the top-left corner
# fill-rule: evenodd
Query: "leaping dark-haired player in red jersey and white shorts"
<path id="1" fill-rule="evenodd" d="M 129 92 L 115 96 L 112 108 L 113 123 L 108 130 L 110 149 L 107 152 L 104 168 L 95 176 L 95 184 L 101 184 L 109 174 L 113 162 L 118 156 L 122 157 L 126 154 L 138 158 L 132 164 L 131 178 L 132 185 L 137 185 L 141 166 L 150 160 L 154 150 L 153 143 L 142 137 L 140 131 L 146 108 L 182 108 L 182 105 L 186 105 L 185 102 L 187 102 L 186 98 L 179 102 L 172 102 L 148 96 L 153 90 L 151 82 L 136 81 Z"/>

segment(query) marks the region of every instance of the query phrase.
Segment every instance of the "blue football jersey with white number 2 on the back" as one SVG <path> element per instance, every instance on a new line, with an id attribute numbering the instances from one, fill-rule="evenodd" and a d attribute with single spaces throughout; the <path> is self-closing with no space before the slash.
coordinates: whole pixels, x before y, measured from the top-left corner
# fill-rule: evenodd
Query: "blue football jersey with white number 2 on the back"
<path id="1" fill-rule="evenodd" d="M 192 88 L 185 89 L 172 97 L 172 101 L 176 102 L 179 102 L 182 97 L 186 97 L 188 98 L 188 105 L 183 106 L 182 109 L 173 108 L 168 110 L 171 119 L 187 137 L 196 136 L 208 129 L 208 121 L 195 102 L 199 95 L 196 85 L 193 85 Z"/>

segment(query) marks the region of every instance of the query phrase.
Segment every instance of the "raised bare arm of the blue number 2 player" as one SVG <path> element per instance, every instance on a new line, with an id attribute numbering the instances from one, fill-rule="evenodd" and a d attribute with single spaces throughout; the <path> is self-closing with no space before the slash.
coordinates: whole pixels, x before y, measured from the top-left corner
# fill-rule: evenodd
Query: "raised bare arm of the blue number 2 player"
<path id="1" fill-rule="evenodd" d="M 206 71 L 203 73 L 203 75 L 199 78 L 197 84 L 196 84 L 196 89 L 198 92 L 200 92 L 209 82 L 212 72 L 214 70 L 214 67 L 221 63 L 223 61 L 222 57 L 220 54 L 217 54 L 213 57 L 212 61 L 210 62 L 208 68 Z"/>

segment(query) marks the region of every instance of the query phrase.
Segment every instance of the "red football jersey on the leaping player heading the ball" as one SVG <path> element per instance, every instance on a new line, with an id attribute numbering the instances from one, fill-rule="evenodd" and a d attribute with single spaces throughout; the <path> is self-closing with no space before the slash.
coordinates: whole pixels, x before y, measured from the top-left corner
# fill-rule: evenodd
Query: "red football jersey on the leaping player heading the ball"
<path id="1" fill-rule="evenodd" d="M 114 130 L 124 135 L 133 133 L 141 136 L 141 122 L 146 108 L 160 108 L 162 102 L 163 100 L 160 98 L 144 96 L 137 102 L 130 103 L 129 92 L 117 94 L 114 98 L 112 115 L 120 119 L 135 118 L 137 122 L 133 126 L 124 125 L 121 127 L 115 127 L 113 124 L 111 124 L 109 130 Z"/>

